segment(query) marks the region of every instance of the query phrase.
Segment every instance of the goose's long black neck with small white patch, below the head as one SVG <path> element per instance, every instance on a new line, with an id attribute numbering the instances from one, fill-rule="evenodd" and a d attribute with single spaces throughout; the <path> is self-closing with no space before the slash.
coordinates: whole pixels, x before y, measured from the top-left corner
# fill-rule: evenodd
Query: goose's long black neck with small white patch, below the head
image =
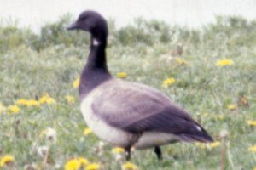
<path id="1" fill-rule="evenodd" d="M 90 54 L 80 77 L 79 96 L 81 100 L 91 90 L 111 78 L 108 72 L 106 47 L 107 36 L 91 36 Z"/>

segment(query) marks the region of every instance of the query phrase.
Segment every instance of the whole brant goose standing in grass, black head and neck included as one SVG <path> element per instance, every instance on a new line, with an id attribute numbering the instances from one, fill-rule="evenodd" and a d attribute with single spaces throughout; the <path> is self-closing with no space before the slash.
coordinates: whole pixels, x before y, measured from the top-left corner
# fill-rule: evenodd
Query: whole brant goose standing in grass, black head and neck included
<path id="1" fill-rule="evenodd" d="M 110 144 L 125 148 L 154 147 L 174 142 L 212 142 L 212 137 L 165 94 L 136 82 L 113 78 L 107 66 L 108 25 L 101 14 L 84 11 L 67 30 L 90 32 L 90 54 L 80 77 L 80 107 L 87 125 Z"/>

